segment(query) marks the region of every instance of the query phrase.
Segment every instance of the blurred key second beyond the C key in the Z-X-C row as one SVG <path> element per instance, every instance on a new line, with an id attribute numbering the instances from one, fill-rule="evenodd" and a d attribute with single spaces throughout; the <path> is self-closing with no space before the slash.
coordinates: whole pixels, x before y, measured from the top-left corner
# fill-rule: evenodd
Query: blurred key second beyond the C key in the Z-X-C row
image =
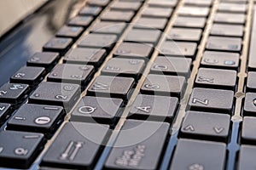
<path id="1" fill-rule="evenodd" d="M 224 37 L 242 37 L 243 26 L 227 25 L 227 24 L 213 24 L 211 35 Z"/>

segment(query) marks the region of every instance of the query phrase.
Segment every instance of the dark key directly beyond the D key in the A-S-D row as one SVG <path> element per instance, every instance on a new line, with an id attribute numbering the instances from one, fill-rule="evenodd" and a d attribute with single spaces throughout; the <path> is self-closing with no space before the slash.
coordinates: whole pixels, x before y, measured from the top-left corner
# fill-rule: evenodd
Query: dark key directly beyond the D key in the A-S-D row
<path id="1" fill-rule="evenodd" d="M 194 58 L 197 50 L 195 42 L 163 42 L 160 47 L 160 54 Z"/>

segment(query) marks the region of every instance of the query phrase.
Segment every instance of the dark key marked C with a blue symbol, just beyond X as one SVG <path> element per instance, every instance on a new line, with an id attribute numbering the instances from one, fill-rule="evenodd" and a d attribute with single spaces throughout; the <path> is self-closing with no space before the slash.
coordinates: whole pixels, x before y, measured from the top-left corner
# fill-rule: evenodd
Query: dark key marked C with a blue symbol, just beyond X
<path id="1" fill-rule="evenodd" d="M 206 51 L 201 59 L 204 67 L 237 70 L 239 65 L 239 54 Z"/>

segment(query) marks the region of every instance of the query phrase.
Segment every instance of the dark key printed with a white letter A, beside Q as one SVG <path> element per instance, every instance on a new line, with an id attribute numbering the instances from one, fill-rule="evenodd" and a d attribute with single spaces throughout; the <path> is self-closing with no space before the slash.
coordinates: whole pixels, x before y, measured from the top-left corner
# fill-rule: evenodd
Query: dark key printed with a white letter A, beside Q
<path id="1" fill-rule="evenodd" d="M 177 104 L 177 98 L 139 94 L 131 106 L 129 118 L 172 122 Z"/>

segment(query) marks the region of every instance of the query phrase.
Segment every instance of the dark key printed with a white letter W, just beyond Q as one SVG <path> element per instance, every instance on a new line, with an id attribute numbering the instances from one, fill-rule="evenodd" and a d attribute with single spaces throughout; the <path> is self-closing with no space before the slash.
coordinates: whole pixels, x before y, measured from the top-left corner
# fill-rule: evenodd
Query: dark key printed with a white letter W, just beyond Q
<path id="1" fill-rule="evenodd" d="M 133 78 L 99 76 L 91 84 L 88 94 L 127 100 L 131 97 L 134 83 Z"/>

